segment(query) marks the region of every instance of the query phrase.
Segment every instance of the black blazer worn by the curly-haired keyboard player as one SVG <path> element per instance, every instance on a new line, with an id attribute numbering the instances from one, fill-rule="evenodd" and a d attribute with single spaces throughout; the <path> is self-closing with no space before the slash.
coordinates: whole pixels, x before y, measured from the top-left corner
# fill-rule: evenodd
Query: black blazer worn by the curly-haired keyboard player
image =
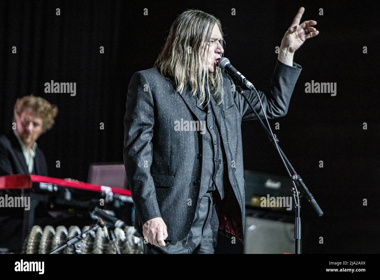
<path id="1" fill-rule="evenodd" d="M 47 176 L 46 159 L 39 147 L 36 149 L 33 169 L 33 174 Z M 0 176 L 10 174 L 29 174 L 20 143 L 12 130 L 0 135 Z"/>

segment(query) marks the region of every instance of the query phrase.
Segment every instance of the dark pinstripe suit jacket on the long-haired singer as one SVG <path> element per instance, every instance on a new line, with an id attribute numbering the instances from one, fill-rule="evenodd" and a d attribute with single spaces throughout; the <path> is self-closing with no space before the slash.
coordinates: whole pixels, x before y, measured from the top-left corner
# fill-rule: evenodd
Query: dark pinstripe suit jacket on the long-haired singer
<path id="1" fill-rule="evenodd" d="M 260 91 L 268 118 L 287 113 L 291 94 L 302 67 L 277 60 L 269 90 Z M 224 182 L 225 197 L 218 211 L 219 232 L 243 242 L 245 226 L 245 182 L 241 121 L 255 119 L 245 99 L 234 91 L 230 75 L 223 76 L 223 104 L 216 105 L 219 127 L 228 162 L 229 182 Z M 167 240 L 182 240 L 190 231 L 201 195 L 209 178 L 202 176 L 202 137 L 200 131 L 177 131 L 175 122 L 204 120 L 205 112 L 190 88 L 182 94 L 156 67 L 136 72 L 128 86 L 124 117 L 124 164 L 133 201 L 135 227 L 162 217 L 168 230 Z M 244 91 L 256 112 L 264 118 L 253 91 Z M 197 157 L 198 155 L 198 157 Z M 198 180 L 198 181 L 197 181 Z"/>

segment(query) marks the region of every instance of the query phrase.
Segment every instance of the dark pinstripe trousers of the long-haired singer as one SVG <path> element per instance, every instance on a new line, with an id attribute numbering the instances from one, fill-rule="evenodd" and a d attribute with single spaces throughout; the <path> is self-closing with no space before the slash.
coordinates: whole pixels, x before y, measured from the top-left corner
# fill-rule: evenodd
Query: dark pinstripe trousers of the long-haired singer
<path id="1" fill-rule="evenodd" d="M 212 219 L 217 215 L 215 195 L 218 195 L 217 190 L 203 195 L 192 227 L 184 239 L 165 240 L 166 245 L 159 247 L 144 242 L 144 254 L 214 254 L 219 227 L 218 219 Z"/>

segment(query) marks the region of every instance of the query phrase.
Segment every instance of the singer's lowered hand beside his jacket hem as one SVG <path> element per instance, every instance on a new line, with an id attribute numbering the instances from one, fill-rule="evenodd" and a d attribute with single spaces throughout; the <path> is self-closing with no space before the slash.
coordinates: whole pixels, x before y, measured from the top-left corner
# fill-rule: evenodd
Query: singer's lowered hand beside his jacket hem
<path id="1" fill-rule="evenodd" d="M 165 239 L 168 237 L 166 224 L 161 217 L 150 219 L 142 226 L 142 234 L 144 239 L 148 239 L 149 243 L 156 246 L 165 246 Z"/>

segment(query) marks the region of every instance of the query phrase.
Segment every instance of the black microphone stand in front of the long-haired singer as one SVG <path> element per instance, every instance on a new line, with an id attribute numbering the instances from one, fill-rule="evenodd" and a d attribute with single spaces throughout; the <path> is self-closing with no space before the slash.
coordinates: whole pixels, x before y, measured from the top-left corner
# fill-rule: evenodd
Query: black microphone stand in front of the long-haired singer
<path id="1" fill-rule="evenodd" d="M 248 80 L 246 80 L 246 81 L 248 82 Z M 237 80 L 237 82 L 241 83 L 242 81 Z M 245 84 L 247 84 L 247 82 L 245 82 Z M 317 211 L 318 216 L 322 216 L 323 212 L 322 212 L 321 208 L 318 206 L 317 201 L 315 201 L 313 195 L 310 193 L 310 191 L 307 189 L 306 185 L 302 181 L 301 176 L 299 176 L 299 174 L 297 174 L 297 172 L 294 170 L 293 166 L 289 162 L 288 158 L 286 157 L 284 152 L 281 150 L 280 146 L 277 144 L 279 142 L 279 140 L 277 139 L 276 135 L 272 133 L 271 126 L 269 125 L 269 122 L 268 122 L 268 118 L 266 117 L 266 114 L 264 112 L 263 104 L 261 103 L 260 95 L 258 94 L 255 86 L 253 86 L 252 83 L 249 83 L 249 87 L 247 86 L 247 88 L 249 88 L 250 93 L 252 92 L 252 90 L 254 90 L 256 92 L 257 97 L 260 101 L 261 110 L 263 111 L 263 114 L 264 114 L 264 117 L 265 117 L 265 120 L 268 124 L 269 129 L 264 125 L 263 121 L 259 117 L 256 110 L 253 109 L 251 102 L 249 102 L 249 100 L 245 97 L 245 95 L 243 94 L 244 91 L 239 86 L 239 84 L 237 85 L 237 87 L 239 88 L 239 93 L 243 96 L 245 101 L 247 101 L 249 107 L 252 109 L 252 112 L 256 115 L 256 118 L 259 120 L 260 125 L 263 127 L 264 131 L 268 135 L 269 140 L 272 142 L 272 144 L 277 149 L 277 152 L 279 153 L 279 155 L 281 157 L 282 163 L 285 166 L 290 178 L 292 179 L 294 187 L 291 188 L 291 193 L 293 194 L 293 198 L 294 198 L 294 207 L 296 207 L 296 221 L 294 223 L 295 253 L 299 254 L 299 243 L 301 240 L 301 217 L 300 217 L 299 199 L 302 198 L 302 196 L 304 194 L 306 194 L 307 200 L 309 200 L 309 202 L 313 206 L 314 210 Z M 304 189 L 304 193 L 300 197 L 298 196 L 299 191 L 297 189 L 296 184 L 298 186 L 301 186 Z"/>

